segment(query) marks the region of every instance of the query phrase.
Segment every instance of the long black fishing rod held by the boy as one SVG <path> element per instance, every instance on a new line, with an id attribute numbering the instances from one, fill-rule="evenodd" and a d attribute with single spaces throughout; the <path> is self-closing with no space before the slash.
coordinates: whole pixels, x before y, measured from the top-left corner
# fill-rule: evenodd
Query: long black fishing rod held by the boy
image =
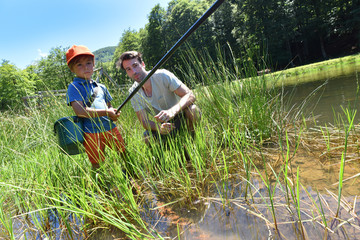
<path id="1" fill-rule="evenodd" d="M 172 48 L 160 59 L 160 61 L 153 67 L 149 74 L 139 83 L 139 85 L 129 94 L 124 102 L 118 107 L 116 113 L 139 91 L 145 82 L 174 54 L 181 44 L 224 2 L 224 0 L 217 0 L 190 28 L 187 32 L 172 46 Z"/>

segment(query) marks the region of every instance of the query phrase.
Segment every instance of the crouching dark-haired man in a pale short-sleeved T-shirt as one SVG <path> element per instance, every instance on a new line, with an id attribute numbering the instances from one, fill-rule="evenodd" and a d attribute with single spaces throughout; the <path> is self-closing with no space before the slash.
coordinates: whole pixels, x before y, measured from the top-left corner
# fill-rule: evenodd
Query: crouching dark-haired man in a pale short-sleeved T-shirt
<path id="1" fill-rule="evenodd" d="M 142 55 L 136 51 L 124 52 L 117 66 L 135 82 L 130 88 L 132 92 L 138 84 L 149 74 L 145 69 Z M 186 119 L 186 125 L 191 134 L 199 121 L 200 109 L 194 104 L 195 95 L 173 73 L 157 70 L 131 99 L 136 116 L 146 129 L 145 143 L 149 143 L 150 132 L 157 138 L 172 135 L 181 127 L 181 119 Z M 153 116 L 155 121 L 152 121 Z"/>

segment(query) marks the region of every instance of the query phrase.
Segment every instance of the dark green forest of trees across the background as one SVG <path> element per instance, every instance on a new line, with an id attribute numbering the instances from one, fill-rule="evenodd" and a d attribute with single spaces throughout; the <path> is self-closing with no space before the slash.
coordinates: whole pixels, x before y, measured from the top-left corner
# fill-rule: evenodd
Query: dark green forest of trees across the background
<path id="1" fill-rule="evenodd" d="M 172 0 L 166 9 L 155 5 L 143 28 L 124 30 L 115 51 L 104 46 L 97 53 L 97 67 L 118 84 L 129 83 L 116 68 L 122 52 L 142 52 L 150 70 L 213 3 Z M 359 28 L 360 0 L 226 0 L 163 67 L 182 76 L 186 52 L 196 49 L 197 54 L 213 58 L 221 50 L 240 66 L 252 62 L 256 70 L 282 70 L 358 53 Z M 26 69 L 3 59 L 0 110 L 20 107 L 22 97 L 37 91 L 66 89 L 73 78 L 65 61 L 68 47 L 54 46 L 48 56 Z M 253 57 L 242 58 L 245 55 Z"/>

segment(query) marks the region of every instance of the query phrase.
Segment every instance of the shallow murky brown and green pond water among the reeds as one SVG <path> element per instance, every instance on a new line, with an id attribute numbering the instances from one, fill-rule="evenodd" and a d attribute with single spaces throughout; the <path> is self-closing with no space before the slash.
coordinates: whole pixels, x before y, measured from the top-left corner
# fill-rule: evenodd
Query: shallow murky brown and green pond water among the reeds
<path id="1" fill-rule="evenodd" d="M 305 101 L 308 113 L 319 115 L 317 124 L 334 123 L 334 112 L 342 112 L 342 107 L 351 106 L 358 111 L 360 104 L 356 89 L 359 76 L 338 75 L 324 81 L 308 82 L 296 87 L 286 87 L 286 101 L 289 106 L 301 105 Z M 309 98 L 314 89 L 316 94 Z M 359 123 L 359 117 L 356 123 Z M 258 177 L 247 184 L 241 173 L 234 173 L 226 181 L 214 184 L 210 197 L 198 199 L 191 204 L 181 203 L 160 207 L 165 203 L 159 196 L 149 192 L 143 200 L 142 218 L 166 239 L 360 239 L 360 181 L 353 178 L 344 183 L 342 204 L 338 218 L 337 211 L 338 176 L 340 156 L 322 159 L 322 150 L 308 152 L 299 150 L 291 160 L 292 169 L 299 167 L 302 184 L 299 207 L 289 204 L 287 193 L 281 184 L 274 181 L 273 204 L 269 191 Z M 348 179 L 360 172 L 359 154 L 350 152 L 345 167 L 344 178 Z M 240 172 L 241 170 L 239 170 Z M 294 174 L 296 178 L 296 174 Z M 293 176 L 294 176 L 293 175 Z M 294 180 L 294 178 L 292 180 Z M 244 189 L 252 191 L 251 199 L 244 197 Z M 224 200 L 226 196 L 227 200 Z M 290 199 L 292 199 L 290 197 Z M 293 199 L 295 202 L 295 199 Z M 155 209 L 155 210 L 154 210 Z M 320 210 L 321 209 L 321 210 Z M 321 214 L 320 214 L 321 213 Z M 277 224 L 274 224 L 274 216 Z M 327 227 L 322 219 L 327 219 Z M 299 223 L 301 218 L 301 224 Z M 23 222 L 23 221 L 19 221 Z M 75 228 L 81 220 L 74 219 Z M 59 223 L 52 219 L 53 228 Z M 30 224 L 31 225 L 31 224 Z M 80 224 L 81 225 L 81 224 Z M 15 226 L 15 228 L 17 228 Z M 19 227 L 23 229 L 24 226 Z M 26 227 L 27 228 L 27 227 Z M 81 231 L 78 231 L 81 232 Z M 62 239 L 59 231 L 56 239 Z M 73 235 L 72 239 L 123 239 L 116 229 L 101 231 L 91 236 Z M 36 234 L 27 234 L 29 239 L 42 239 Z M 0 234 L 1 239 L 1 234 Z M 67 238 L 64 238 L 67 239 Z"/>

